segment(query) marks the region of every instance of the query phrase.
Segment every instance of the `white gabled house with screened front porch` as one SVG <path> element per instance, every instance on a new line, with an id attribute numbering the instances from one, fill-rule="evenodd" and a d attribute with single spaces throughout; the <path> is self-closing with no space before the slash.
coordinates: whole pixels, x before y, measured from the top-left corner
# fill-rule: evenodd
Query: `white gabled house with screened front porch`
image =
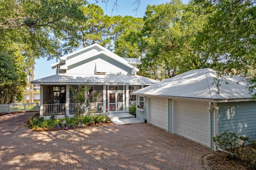
<path id="1" fill-rule="evenodd" d="M 132 91 L 158 83 L 136 75 L 140 63 L 139 59 L 119 57 L 97 43 L 60 57 L 51 65 L 56 75 L 31 82 L 40 85 L 40 115 L 47 119 L 52 115 L 74 115 L 76 103 L 70 87 L 85 84 L 92 87 L 90 94 L 98 93 L 90 101 L 91 111 L 128 111 L 136 102 Z"/>

